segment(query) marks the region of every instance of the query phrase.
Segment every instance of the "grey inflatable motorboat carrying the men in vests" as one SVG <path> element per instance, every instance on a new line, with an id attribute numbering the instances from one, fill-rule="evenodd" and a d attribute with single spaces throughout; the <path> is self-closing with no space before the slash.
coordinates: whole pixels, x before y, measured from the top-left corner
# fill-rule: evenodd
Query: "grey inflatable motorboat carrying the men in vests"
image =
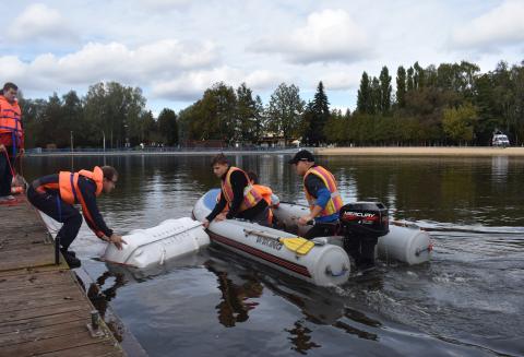
<path id="1" fill-rule="evenodd" d="M 206 192 L 194 205 L 193 217 L 204 219 L 216 203 L 218 189 Z M 279 271 L 315 285 L 343 284 L 349 277 L 349 259 L 342 248 L 343 237 L 325 237 L 312 240 L 312 248 L 299 254 L 283 243 L 288 238 L 302 239 L 311 226 L 297 224 L 309 209 L 295 203 L 281 203 L 273 211 L 284 230 L 273 229 L 250 222 L 226 219 L 212 222 L 207 229 L 213 242 L 235 252 L 269 264 Z M 419 264 L 430 260 L 432 246 L 427 231 L 407 223 L 390 222 L 389 231 L 379 238 L 378 258 Z"/>

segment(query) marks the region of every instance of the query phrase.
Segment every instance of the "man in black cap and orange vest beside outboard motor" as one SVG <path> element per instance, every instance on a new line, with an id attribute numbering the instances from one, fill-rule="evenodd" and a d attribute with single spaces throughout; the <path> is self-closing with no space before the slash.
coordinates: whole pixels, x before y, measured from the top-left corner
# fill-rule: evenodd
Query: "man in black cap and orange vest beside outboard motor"
<path id="1" fill-rule="evenodd" d="M 333 236 L 338 221 L 338 211 L 343 206 L 333 175 L 314 164 L 314 156 L 307 150 L 299 151 L 289 160 L 299 176 L 303 176 L 303 191 L 309 202 L 310 213 L 301 216 L 298 224 L 307 225 L 314 221 L 314 226 L 303 238 Z"/>

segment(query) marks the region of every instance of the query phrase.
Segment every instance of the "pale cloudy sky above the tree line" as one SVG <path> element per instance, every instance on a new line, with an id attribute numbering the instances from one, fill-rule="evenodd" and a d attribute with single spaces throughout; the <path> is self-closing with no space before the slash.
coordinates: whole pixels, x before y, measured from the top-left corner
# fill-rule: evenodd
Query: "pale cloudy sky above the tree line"
<path id="1" fill-rule="evenodd" d="M 524 60 L 524 0 L 17 0 L 9 15 L 0 82 L 47 98 L 118 81 L 154 112 L 219 81 L 264 104 L 282 82 L 310 99 L 323 81 L 332 107 L 353 110 L 362 71 Z"/>

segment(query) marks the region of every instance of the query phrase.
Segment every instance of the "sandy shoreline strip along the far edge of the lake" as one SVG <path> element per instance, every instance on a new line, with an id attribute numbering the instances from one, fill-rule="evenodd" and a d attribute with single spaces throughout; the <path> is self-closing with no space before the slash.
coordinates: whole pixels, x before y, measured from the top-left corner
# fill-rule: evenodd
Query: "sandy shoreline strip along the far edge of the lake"
<path id="1" fill-rule="evenodd" d="M 191 150 L 191 151 L 110 151 L 110 152 L 41 152 L 27 153 L 26 156 L 190 156 L 215 155 L 223 152 L 226 155 L 283 155 L 294 154 L 300 148 L 282 148 L 271 151 L 253 150 Z M 307 147 L 308 148 L 308 147 Z M 362 147 L 309 147 L 318 156 L 522 156 L 524 147 L 491 147 L 491 146 L 362 146 Z"/>

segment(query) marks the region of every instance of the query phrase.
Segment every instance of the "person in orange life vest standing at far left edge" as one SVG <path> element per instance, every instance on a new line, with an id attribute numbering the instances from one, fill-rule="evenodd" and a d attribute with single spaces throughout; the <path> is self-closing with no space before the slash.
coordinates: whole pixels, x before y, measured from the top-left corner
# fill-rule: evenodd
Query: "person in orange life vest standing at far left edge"
<path id="1" fill-rule="evenodd" d="M 0 202 L 14 200 L 11 195 L 11 182 L 16 154 L 24 153 L 24 131 L 22 112 L 16 95 L 19 87 L 14 83 L 5 83 L 0 95 Z"/>

